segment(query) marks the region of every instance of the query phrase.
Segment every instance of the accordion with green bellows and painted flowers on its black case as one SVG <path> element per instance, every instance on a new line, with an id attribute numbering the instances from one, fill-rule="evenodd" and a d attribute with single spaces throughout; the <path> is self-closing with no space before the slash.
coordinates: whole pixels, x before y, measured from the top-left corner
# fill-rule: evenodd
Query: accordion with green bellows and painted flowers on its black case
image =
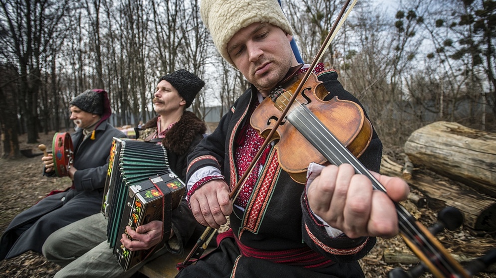
<path id="1" fill-rule="evenodd" d="M 168 239 L 171 211 L 179 206 L 184 191 L 185 184 L 171 170 L 167 150 L 161 144 L 113 138 L 101 212 L 108 220 L 109 246 L 125 271 L 159 248 L 126 249 L 120 244 L 122 234 L 127 234 L 126 226 L 136 229 L 159 220 L 163 223 L 163 238 Z"/>

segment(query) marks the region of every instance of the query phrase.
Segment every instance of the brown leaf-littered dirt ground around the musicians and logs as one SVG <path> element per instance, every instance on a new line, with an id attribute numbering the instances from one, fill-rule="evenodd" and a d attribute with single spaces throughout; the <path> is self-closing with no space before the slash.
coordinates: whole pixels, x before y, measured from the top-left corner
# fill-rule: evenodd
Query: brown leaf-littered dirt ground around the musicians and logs
<path id="1" fill-rule="evenodd" d="M 53 134 L 40 134 L 39 143 L 51 148 Z M 21 149 L 31 149 L 33 153 L 41 153 L 39 143 L 26 144 L 25 136 L 21 136 Z M 50 147 L 49 147 L 50 146 Z M 3 146 L 0 146 L 0 157 Z M 0 213 L 0 233 L 3 233 L 10 220 L 19 212 L 30 207 L 51 190 L 61 190 L 68 185 L 67 178 L 46 178 L 41 176 L 41 155 L 31 158 L 22 157 L 15 160 L 0 159 L 0 190 L 3 193 L 3 207 Z M 416 192 L 419 194 L 419 192 Z M 436 212 L 427 208 L 418 209 L 408 201 L 403 204 L 422 224 L 430 226 L 436 221 Z M 471 235 L 466 229 L 455 232 L 442 232 L 438 239 L 445 248 L 457 256 L 478 257 L 484 252 L 496 248 L 496 239 L 490 235 Z M 408 252 L 401 238 L 389 240 L 379 239 L 373 250 L 360 261 L 367 278 L 387 277 L 388 271 L 396 267 L 408 269 L 412 265 L 387 264 L 384 252 Z M 53 263 L 47 262 L 41 255 L 27 252 L 17 258 L 0 262 L 0 278 L 49 278 L 59 270 Z M 432 277 L 425 274 L 423 277 Z M 496 278 L 496 273 L 481 273 L 479 278 Z"/>

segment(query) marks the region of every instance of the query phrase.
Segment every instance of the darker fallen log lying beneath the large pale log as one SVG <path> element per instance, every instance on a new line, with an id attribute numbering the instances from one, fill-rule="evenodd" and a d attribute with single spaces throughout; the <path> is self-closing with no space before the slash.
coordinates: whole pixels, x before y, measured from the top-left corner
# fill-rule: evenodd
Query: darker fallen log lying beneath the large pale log
<path id="1" fill-rule="evenodd" d="M 400 164 L 386 155 L 383 156 L 382 174 L 401 177 L 401 168 Z M 433 176 L 436 174 L 419 169 L 414 172 L 410 180 L 406 180 L 411 187 L 425 196 L 427 202 L 422 204 L 435 211 L 440 211 L 446 206 L 458 208 L 465 216 L 466 227 L 475 231 L 496 232 L 496 198 L 481 194 L 446 177 L 433 178 Z M 421 207 L 419 204 L 416 205 Z"/>

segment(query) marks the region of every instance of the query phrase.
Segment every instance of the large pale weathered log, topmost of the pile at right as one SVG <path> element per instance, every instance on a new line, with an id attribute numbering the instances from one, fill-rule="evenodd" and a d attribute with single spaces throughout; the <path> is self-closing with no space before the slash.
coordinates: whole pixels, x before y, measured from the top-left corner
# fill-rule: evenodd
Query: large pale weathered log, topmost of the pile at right
<path id="1" fill-rule="evenodd" d="M 494 133 L 435 122 L 412 133 L 405 153 L 417 167 L 423 165 L 496 197 Z"/>

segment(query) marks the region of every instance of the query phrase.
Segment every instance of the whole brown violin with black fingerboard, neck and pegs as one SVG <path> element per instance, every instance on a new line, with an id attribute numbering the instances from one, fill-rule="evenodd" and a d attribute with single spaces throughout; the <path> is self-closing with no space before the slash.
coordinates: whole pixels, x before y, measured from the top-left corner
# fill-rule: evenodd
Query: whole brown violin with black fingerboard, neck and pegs
<path id="1" fill-rule="evenodd" d="M 300 86 L 299 95 L 293 96 L 292 90 L 300 81 L 301 77 L 295 76 L 288 84 L 273 90 L 250 118 L 251 126 L 263 137 L 267 137 L 269 131 L 280 123 L 272 140 L 278 140 L 275 147 L 281 167 L 295 181 L 305 183 L 304 174 L 310 162 L 338 166 L 349 163 L 356 173 L 363 174 L 372 181 L 375 190 L 386 192 L 357 159 L 372 138 L 372 126 L 361 107 L 337 97 L 323 101 L 329 92 L 313 73 Z M 294 100 L 292 105 L 291 99 Z M 280 119 L 284 111 L 285 117 Z M 395 203 L 395 207 L 400 235 L 422 264 L 410 273 L 396 269 L 389 273 L 389 277 L 418 277 L 429 271 L 437 278 L 469 278 L 496 261 L 494 250 L 464 269 L 434 237 L 433 233 L 438 233 L 445 227 L 454 230 L 463 224 L 463 215 L 459 210 L 448 208 L 442 213 L 442 223 L 436 228 L 427 229 L 401 204 Z"/>

